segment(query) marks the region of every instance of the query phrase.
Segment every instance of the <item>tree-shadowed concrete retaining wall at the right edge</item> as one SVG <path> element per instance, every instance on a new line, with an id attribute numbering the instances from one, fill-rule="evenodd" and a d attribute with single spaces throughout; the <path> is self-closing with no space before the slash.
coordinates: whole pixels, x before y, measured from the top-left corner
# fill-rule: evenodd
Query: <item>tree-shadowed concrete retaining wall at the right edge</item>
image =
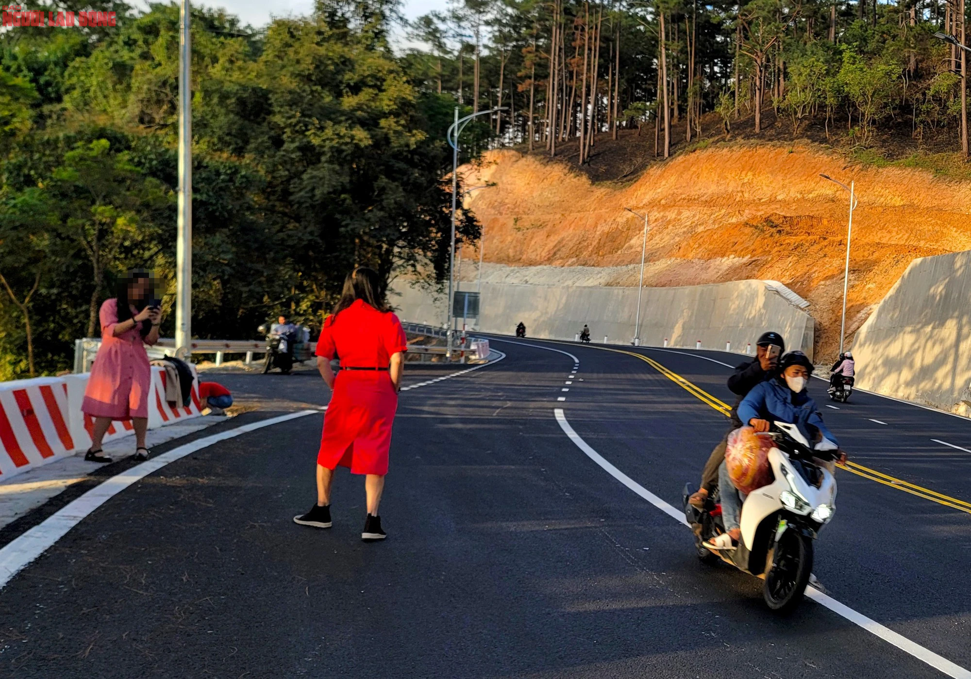
<path id="1" fill-rule="evenodd" d="M 856 333 L 856 384 L 969 414 L 971 251 L 915 259 Z"/>

